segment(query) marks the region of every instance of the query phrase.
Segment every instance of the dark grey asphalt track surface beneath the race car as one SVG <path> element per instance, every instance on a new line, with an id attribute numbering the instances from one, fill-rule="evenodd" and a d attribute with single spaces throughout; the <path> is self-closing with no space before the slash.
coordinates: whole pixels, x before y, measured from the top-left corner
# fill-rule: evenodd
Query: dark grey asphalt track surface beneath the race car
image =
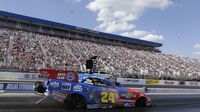
<path id="1" fill-rule="evenodd" d="M 0 112 L 200 112 L 200 95 L 149 95 L 153 106 L 148 108 L 115 108 L 68 110 L 64 105 L 34 93 L 0 94 Z"/>

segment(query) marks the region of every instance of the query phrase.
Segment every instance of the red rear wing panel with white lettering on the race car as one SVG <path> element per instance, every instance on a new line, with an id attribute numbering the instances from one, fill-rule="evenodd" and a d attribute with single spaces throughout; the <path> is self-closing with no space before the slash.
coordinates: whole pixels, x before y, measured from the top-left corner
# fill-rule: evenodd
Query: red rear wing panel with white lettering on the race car
<path id="1" fill-rule="evenodd" d="M 67 82 L 78 82 L 77 71 L 40 69 L 39 72 L 46 79 L 57 79 L 64 80 Z"/>

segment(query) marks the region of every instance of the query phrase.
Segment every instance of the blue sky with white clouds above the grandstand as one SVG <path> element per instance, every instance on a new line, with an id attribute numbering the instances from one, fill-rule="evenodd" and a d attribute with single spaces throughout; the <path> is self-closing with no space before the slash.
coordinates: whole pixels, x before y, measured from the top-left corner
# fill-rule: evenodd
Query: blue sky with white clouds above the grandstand
<path id="1" fill-rule="evenodd" d="M 200 59 L 200 0 L 0 0 L 0 10 L 162 43 Z"/>

